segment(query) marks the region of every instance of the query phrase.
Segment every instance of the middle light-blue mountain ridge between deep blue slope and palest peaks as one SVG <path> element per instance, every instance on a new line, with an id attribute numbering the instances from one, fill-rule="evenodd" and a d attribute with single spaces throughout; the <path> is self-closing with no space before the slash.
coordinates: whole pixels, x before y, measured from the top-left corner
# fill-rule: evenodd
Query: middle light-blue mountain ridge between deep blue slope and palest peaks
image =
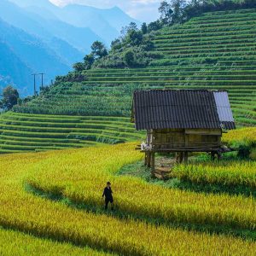
<path id="1" fill-rule="evenodd" d="M 57 9 L 54 5 L 53 8 Z M 96 40 L 102 40 L 90 28 L 71 26 L 59 20 L 49 12 L 49 9 L 34 6 L 22 9 L 14 3 L 1 0 L 0 18 L 45 41 L 49 41 L 51 38 L 66 41 L 70 44 L 70 49 L 67 49 L 67 51 L 73 52 L 73 55 L 77 57 L 75 60 L 70 60 L 71 62 L 79 61 L 89 51 L 90 44 Z M 77 52 L 74 52 L 72 48 L 77 48 Z"/>

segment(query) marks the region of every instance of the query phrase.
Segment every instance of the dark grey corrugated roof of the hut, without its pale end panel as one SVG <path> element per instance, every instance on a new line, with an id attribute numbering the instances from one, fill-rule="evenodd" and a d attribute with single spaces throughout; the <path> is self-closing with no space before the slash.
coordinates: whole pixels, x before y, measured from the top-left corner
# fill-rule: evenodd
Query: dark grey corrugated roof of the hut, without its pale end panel
<path id="1" fill-rule="evenodd" d="M 211 90 L 137 90 L 133 113 L 137 130 L 221 128 Z"/>

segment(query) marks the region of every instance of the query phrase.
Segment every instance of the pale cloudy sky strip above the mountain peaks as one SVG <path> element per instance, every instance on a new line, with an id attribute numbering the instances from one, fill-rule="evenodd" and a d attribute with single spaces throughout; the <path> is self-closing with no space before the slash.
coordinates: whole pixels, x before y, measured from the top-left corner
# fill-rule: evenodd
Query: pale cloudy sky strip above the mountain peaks
<path id="1" fill-rule="evenodd" d="M 154 21 L 159 17 L 158 7 L 162 0 L 50 0 L 52 3 L 65 5 L 79 3 L 97 8 L 111 8 L 118 6 L 128 15 L 141 21 Z"/>

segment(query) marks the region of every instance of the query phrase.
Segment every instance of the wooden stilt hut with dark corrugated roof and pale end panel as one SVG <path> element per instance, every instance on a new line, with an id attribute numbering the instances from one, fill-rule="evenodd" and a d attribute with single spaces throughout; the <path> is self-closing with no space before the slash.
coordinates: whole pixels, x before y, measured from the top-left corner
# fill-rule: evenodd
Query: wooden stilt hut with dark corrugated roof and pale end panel
<path id="1" fill-rule="evenodd" d="M 189 152 L 219 155 L 223 130 L 236 129 L 228 93 L 217 90 L 137 90 L 131 121 L 147 131 L 141 150 L 153 172 L 156 152 L 176 152 L 178 162 Z"/>

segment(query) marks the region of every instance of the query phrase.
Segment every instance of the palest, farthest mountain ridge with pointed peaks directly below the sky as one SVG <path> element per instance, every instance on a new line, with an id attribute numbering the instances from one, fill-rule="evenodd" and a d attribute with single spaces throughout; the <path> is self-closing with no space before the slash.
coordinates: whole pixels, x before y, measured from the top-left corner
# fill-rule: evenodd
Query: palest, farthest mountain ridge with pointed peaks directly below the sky
<path id="1" fill-rule="evenodd" d="M 23 9 L 29 10 L 44 19 L 56 20 L 69 23 L 80 28 L 90 28 L 105 44 L 110 44 L 113 38 L 119 36 L 122 26 L 128 25 L 131 21 L 140 22 L 126 15 L 121 9 L 97 9 L 79 4 L 68 4 L 64 7 L 57 7 L 49 0 L 11 0 Z"/>

